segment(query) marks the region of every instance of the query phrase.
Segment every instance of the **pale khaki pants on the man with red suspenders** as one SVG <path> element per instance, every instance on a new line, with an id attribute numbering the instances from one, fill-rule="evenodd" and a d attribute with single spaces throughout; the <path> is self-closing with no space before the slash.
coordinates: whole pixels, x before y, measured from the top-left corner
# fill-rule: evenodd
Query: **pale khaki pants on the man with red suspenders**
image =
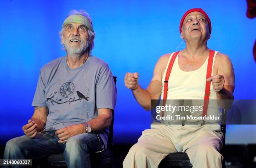
<path id="1" fill-rule="evenodd" d="M 193 168 L 221 168 L 220 125 L 151 125 L 123 161 L 123 168 L 157 168 L 169 153 L 186 152 Z"/>

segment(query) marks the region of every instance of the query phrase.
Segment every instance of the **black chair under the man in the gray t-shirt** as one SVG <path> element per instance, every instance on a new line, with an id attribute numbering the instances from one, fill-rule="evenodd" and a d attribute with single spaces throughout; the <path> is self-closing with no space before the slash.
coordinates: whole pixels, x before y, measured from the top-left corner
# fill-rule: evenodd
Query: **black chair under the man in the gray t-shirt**
<path id="1" fill-rule="evenodd" d="M 113 76 L 116 84 L 116 76 Z M 113 168 L 113 133 L 114 133 L 114 110 L 112 110 L 112 122 L 109 127 L 108 135 L 108 148 L 100 153 L 91 153 L 91 165 L 92 168 Z M 45 160 L 38 163 L 38 168 L 51 167 L 51 168 L 67 168 L 67 163 L 65 161 L 63 153 L 50 155 Z"/>

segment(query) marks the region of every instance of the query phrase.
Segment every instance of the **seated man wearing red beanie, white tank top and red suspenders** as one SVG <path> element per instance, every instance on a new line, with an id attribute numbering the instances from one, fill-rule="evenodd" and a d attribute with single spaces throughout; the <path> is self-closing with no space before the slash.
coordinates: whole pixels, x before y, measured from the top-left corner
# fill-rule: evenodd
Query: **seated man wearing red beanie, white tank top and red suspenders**
<path id="1" fill-rule="evenodd" d="M 146 110 L 151 109 L 151 100 L 160 96 L 163 106 L 168 99 L 202 99 L 202 117 L 206 117 L 210 113 L 207 115 L 209 99 L 233 99 L 233 66 L 227 55 L 207 47 L 212 25 L 202 9 L 188 10 L 181 19 L 179 31 L 186 48 L 160 57 L 148 88 L 140 87 L 136 72 L 125 74 L 125 86 Z M 221 116 L 220 110 L 217 111 Z M 144 130 L 138 143 L 129 150 L 123 167 L 157 168 L 169 153 L 186 152 L 193 168 L 221 168 L 223 156 L 219 150 L 223 134 L 219 122 L 203 119 L 151 124 L 151 129 Z"/>

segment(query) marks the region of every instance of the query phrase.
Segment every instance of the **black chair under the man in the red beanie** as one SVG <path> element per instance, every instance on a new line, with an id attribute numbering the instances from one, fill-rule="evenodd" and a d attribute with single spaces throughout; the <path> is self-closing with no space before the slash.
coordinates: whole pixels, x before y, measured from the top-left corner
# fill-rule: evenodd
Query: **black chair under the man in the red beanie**
<path id="1" fill-rule="evenodd" d="M 226 135 L 226 111 L 222 110 L 222 121 L 220 125 L 220 130 L 223 132 L 223 147 L 220 150 L 220 153 L 223 155 L 224 159 L 222 162 L 222 168 L 226 168 L 225 165 L 225 135 Z M 170 153 L 169 155 L 161 161 L 158 168 L 192 168 L 192 164 L 190 163 L 189 157 L 187 153 L 184 152 L 175 152 Z"/>

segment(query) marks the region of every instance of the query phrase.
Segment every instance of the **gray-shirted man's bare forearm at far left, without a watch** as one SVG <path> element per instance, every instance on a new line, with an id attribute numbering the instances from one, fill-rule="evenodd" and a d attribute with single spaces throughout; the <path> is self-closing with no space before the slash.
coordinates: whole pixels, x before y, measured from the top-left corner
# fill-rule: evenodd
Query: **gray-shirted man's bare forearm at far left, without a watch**
<path id="1" fill-rule="evenodd" d="M 32 122 L 34 121 L 37 125 L 37 131 L 40 132 L 44 129 L 46 119 L 49 114 L 48 107 L 35 107 L 34 114 L 31 117 Z"/>

